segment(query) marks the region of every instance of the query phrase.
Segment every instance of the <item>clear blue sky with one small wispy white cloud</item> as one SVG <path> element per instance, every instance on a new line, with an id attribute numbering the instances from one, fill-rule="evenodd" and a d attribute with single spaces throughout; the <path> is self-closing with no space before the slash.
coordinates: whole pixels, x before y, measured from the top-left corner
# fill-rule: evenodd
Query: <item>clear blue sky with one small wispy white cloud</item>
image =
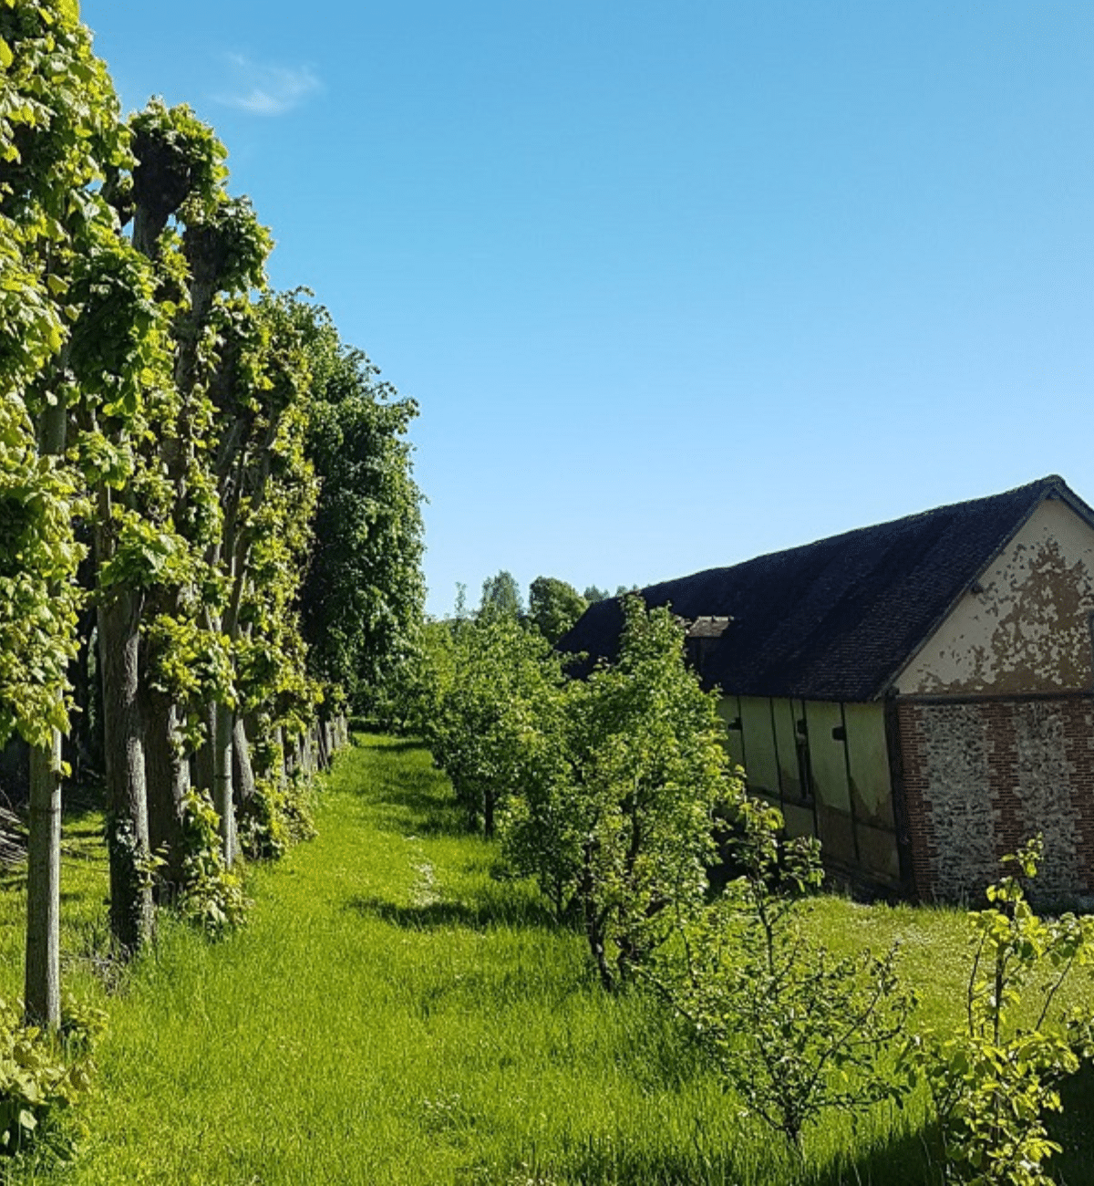
<path id="1" fill-rule="evenodd" d="M 421 404 L 429 607 L 1062 473 L 1094 500 L 1094 5 L 84 0 L 271 280 Z"/>

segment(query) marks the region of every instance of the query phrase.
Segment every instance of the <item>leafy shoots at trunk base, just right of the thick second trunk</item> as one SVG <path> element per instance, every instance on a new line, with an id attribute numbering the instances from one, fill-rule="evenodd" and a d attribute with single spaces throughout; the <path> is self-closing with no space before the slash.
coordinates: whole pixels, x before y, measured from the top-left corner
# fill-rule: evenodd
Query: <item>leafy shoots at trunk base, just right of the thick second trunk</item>
<path id="1" fill-rule="evenodd" d="M 242 926 L 251 907 L 238 869 L 229 869 L 220 848 L 219 820 L 209 796 L 190 791 L 183 799 L 183 884 L 179 913 L 206 933 L 220 936 Z"/>

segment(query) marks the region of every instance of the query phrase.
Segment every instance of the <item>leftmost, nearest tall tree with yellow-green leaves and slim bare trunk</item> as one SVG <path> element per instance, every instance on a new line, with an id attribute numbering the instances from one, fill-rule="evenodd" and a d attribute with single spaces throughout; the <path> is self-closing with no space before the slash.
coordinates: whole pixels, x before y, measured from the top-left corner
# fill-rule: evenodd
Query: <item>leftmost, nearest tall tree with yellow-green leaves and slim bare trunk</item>
<path id="1" fill-rule="evenodd" d="M 75 4 L 0 8 L 0 735 L 15 727 L 31 763 L 26 1009 L 59 1020 L 60 733 L 64 668 L 76 650 L 68 331 L 72 268 L 111 222 L 96 183 L 123 153 L 117 102 Z M 36 441 L 37 436 L 37 441 Z"/>

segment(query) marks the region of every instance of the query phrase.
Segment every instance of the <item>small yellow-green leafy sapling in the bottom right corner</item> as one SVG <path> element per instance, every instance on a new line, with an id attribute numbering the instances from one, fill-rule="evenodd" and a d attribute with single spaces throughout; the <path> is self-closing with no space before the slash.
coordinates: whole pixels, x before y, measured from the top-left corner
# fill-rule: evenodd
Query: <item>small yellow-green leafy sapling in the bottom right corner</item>
<path id="1" fill-rule="evenodd" d="M 1045 1112 L 1060 1111 L 1058 1083 L 1094 1054 L 1094 1012 L 1058 1005 L 1073 969 L 1092 961 L 1094 919 L 1034 913 L 1022 880 L 1036 875 L 1042 852 L 1038 837 L 1004 857 L 1016 874 L 989 886 L 989 907 L 970 914 L 975 956 L 964 1032 L 928 1031 L 906 1053 L 909 1070 L 929 1084 L 954 1181 L 1051 1181 L 1044 1162 L 1060 1146 Z"/>

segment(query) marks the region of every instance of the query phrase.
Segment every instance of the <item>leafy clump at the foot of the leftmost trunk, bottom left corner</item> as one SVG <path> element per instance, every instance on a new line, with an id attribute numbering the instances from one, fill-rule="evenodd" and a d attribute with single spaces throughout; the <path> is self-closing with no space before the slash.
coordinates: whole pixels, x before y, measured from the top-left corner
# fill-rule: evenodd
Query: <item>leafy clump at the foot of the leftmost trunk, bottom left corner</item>
<path id="1" fill-rule="evenodd" d="M 24 1025 L 21 1016 L 20 1007 L 0 1000 L 0 1158 L 45 1149 L 64 1161 L 72 1142 L 60 1115 L 90 1088 L 104 1015 L 66 1005 L 59 1039 Z"/>

